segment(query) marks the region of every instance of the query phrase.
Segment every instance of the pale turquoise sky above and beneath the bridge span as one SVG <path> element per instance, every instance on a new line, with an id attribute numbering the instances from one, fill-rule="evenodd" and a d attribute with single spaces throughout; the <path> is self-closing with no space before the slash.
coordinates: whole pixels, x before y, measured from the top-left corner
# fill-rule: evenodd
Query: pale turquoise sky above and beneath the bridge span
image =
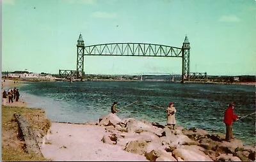
<path id="1" fill-rule="evenodd" d="M 1 71 L 76 70 L 85 46 L 191 46 L 190 72 L 256 75 L 255 0 L 2 0 Z M 84 56 L 86 74 L 181 74 L 179 57 Z"/>

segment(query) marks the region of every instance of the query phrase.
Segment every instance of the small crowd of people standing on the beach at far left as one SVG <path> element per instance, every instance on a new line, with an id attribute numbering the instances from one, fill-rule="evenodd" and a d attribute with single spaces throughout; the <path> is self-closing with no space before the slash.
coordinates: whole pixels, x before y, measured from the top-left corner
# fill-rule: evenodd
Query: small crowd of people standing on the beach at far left
<path id="1" fill-rule="evenodd" d="M 8 91 L 4 90 L 3 96 L 2 96 L 3 105 L 6 105 L 8 101 L 9 103 L 13 103 L 13 101 L 19 101 L 19 97 L 20 97 L 20 92 L 19 92 L 19 89 L 16 89 L 16 87 L 10 88 L 8 89 Z"/>

